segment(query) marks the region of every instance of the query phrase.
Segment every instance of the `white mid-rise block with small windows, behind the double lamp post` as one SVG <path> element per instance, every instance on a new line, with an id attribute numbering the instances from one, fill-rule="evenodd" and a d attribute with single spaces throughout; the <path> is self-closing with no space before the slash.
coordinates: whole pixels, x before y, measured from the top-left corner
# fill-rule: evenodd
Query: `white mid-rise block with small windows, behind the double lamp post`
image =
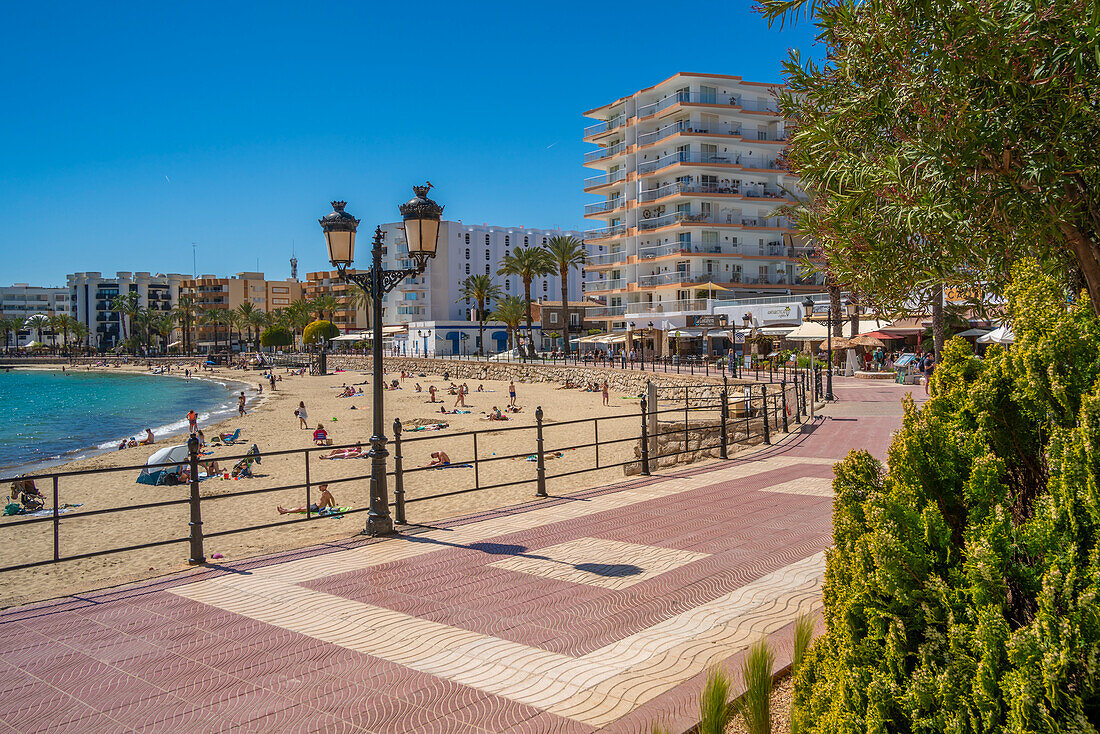
<path id="1" fill-rule="evenodd" d="M 383 266 L 387 270 L 415 267 L 408 256 L 408 245 L 400 222 L 382 226 L 386 233 Z M 369 256 L 370 243 L 361 231 L 356 251 L 360 258 Z M 516 248 L 541 247 L 550 238 L 572 235 L 583 239 L 582 232 L 527 227 L 496 227 L 465 224 L 461 221 L 441 223 L 436 258 L 428 262 L 428 270 L 417 277 L 402 281 L 388 295 L 383 307 L 386 325 L 418 321 L 476 322 L 476 303 L 460 297 L 462 284 L 470 275 L 492 275 L 504 296 L 524 297 L 524 283 L 518 277 L 497 275 L 501 261 Z M 364 261 L 365 262 L 365 261 Z M 581 299 L 581 269 L 570 271 L 569 299 Z M 531 300 L 561 299 L 561 276 L 553 273 L 539 276 L 531 283 Z M 492 305 L 491 305 L 492 307 Z"/>

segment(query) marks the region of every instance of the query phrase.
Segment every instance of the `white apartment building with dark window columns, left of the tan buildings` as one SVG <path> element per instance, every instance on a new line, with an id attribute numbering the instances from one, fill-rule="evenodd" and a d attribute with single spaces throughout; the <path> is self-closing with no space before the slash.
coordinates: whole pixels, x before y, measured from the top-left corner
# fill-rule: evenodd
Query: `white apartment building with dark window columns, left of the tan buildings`
<path id="1" fill-rule="evenodd" d="M 101 273 L 72 273 L 66 276 L 70 315 L 88 327 L 88 344 L 108 350 L 122 341 L 121 317 L 111 310 L 116 296 L 138 294 L 138 305 L 152 310 L 168 311 L 179 304 L 179 286 L 190 275 L 178 273 L 116 273 L 105 277 Z"/>

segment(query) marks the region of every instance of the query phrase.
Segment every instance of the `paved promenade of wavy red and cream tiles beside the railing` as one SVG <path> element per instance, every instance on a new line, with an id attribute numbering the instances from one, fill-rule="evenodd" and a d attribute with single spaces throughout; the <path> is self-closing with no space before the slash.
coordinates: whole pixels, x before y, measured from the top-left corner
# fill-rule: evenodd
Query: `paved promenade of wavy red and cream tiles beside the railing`
<path id="1" fill-rule="evenodd" d="M 883 456 L 910 390 L 838 380 L 734 461 L 7 610 L 0 732 L 684 731 L 710 668 L 789 661 L 832 464 Z"/>

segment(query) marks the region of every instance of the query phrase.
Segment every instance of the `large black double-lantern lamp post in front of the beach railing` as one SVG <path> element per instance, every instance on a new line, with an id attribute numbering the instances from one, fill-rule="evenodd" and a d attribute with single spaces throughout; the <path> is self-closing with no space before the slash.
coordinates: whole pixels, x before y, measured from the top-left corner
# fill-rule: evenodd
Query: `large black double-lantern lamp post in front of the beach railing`
<path id="1" fill-rule="evenodd" d="M 408 243 L 409 255 L 417 262 L 416 267 L 405 270 L 382 269 L 381 227 L 374 228 L 374 240 L 371 243 L 371 270 L 365 273 L 349 273 L 355 254 L 355 230 L 359 220 L 344 211 L 345 201 L 333 201 L 332 211 L 318 220 L 324 231 L 324 241 L 329 248 L 329 261 L 340 273 L 345 283 L 354 283 L 366 292 L 371 298 L 371 328 L 374 343 L 373 355 L 373 405 L 374 427 L 371 436 L 371 506 L 366 515 L 367 535 L 388 535 L 394 532 L 394 523 L 389 517 L 389 496 L 386 491 L 386 436 L 384 429 L 383 401 L 384 386 L 382 377 L 382 297 L 406 277 L 424 273 L 428 261 L 436 256 L 436 245 L 439 242 L 439 226 L 443 216 L 443 207 L 428 198 L 431 186 L 414 186 L 416 196 L 400 206 L 405 227 L 405 241 Z"/>

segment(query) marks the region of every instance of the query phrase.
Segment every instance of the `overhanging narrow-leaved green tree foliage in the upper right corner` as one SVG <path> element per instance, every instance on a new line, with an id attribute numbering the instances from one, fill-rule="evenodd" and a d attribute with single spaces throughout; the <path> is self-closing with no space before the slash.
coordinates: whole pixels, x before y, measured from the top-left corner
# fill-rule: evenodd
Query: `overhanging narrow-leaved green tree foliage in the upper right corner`
<path id="1" fill-rule="evenodd" d="M 810 10 L 780 106 L 792 211 L 872 306 L 935 284 L 999 293 L 1035 259 L 1100 307 L 1100 6 L 1087 0 L 761 0 Z"/>

